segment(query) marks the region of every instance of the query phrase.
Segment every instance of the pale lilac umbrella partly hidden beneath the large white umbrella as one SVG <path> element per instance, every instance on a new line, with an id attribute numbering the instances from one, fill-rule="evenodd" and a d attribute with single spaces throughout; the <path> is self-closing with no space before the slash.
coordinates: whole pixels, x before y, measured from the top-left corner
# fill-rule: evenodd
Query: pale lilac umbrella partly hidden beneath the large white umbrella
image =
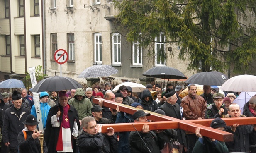
<path id="1" fill-rule="evenodd" d="M 233 101 L 233 103 L 237 103 L 241 109 L 241 113 L 243 113 L 244 104 L 247 103 L 255 94 L 256 92 L 241 92 L 239 96 L 237 96 Z"/>

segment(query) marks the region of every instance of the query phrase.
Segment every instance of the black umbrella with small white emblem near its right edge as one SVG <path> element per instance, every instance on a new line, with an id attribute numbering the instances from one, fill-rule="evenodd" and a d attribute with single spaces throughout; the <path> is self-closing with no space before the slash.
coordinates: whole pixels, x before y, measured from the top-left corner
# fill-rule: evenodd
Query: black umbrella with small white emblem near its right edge
<path id="1" fill-rule="evenodd" d="M 188 84 L 200 84 L 207 86 L 221 86 L 224 84 L 226 77 L 222 75 L 223 73 L 213 71 L 213 72 L 200 72 L 189 77 L 185 82 Z"/>

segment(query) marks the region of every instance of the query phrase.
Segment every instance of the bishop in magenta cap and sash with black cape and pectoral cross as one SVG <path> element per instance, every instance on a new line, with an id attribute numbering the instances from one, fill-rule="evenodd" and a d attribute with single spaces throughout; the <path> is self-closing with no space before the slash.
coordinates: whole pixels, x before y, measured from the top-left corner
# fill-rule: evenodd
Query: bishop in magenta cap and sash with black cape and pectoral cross
<path id="1" fill-rule="evenodd" d="M 66 91 L 59 92 L 59 105 L 49 110 L 45 142 L 48 146 L 48 153 L 76 153 L 76 137 L 80 128 L 78 113 L 76 109 L 68 104 Z"/>

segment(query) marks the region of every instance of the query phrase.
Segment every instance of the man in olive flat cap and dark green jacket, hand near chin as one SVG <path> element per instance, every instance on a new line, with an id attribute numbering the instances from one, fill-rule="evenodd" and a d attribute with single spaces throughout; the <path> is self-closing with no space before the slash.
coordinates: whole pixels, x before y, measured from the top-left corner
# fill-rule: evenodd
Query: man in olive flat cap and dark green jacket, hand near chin
<path id="1" fill-rule="evenodd" d="M 225 118 L 225 115 L 228 113 L 227 108 L 223 105 L 224 95 L 222 93 L 215 93 L 213 95 L 212 104 L 207 106 L 205 111 L 205 118 Z"/>

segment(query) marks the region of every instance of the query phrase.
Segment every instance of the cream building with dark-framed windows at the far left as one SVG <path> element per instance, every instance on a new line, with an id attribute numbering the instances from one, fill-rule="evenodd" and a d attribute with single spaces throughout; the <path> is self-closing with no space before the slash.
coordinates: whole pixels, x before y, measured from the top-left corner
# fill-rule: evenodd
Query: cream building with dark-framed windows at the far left
<path id="1" fill-rule="evenodd" d="M 0 0 L 0 78 L 43 65 L 40 0 Z"/>

